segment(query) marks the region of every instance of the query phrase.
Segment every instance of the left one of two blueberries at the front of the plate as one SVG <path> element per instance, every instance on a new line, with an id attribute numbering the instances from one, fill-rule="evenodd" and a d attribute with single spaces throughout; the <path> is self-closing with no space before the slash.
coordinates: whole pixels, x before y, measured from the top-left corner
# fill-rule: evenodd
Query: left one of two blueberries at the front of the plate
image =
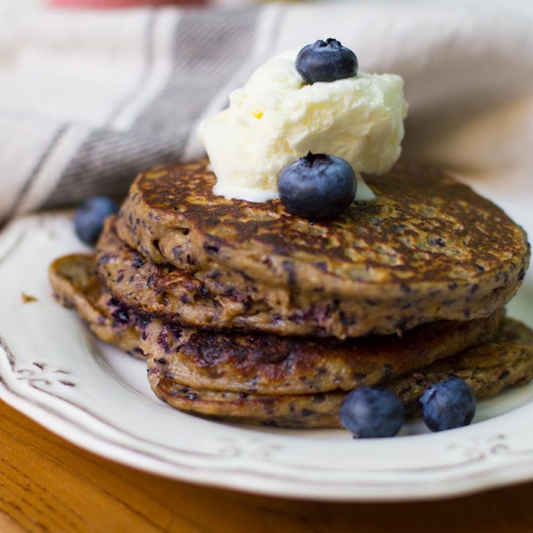
<path id="1" fill-rule="evenodd" d="M 360 439 L 394 437 L 404 421 L 400 400 L 380 387 L 351 391 L 341 403 L 339 416 L 341 424 Z"/>

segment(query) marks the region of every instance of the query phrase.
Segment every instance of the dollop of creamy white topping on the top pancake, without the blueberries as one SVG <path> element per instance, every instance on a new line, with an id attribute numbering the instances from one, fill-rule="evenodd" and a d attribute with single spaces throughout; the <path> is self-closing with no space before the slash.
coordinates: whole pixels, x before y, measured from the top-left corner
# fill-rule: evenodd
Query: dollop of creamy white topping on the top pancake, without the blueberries
<path id="1" fill-rule="evenodd" d="M 359 72 L 307 85 L 296 71 L 298 51 L 257 69 L 230 94 L 227 109 L 198 127 L 217 176 L 215 194 L 278 198 L 280 171 L 308 151 L 344 158 L 356 174 L 382 174 L 398 160 L 407 114 L 403 79 Z M 359 180 L 362 197 L 371 193 Z"/>

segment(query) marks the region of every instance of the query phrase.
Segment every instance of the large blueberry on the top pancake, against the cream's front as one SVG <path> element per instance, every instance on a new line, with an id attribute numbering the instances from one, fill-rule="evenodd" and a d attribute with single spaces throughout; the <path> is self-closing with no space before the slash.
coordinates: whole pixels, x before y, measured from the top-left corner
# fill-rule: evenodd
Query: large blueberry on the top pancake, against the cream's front
<path id="1" fill-rule="evenodd" d="M 348 208 L 357 181 L 344 159 L 310 152 L 281 171 L 278 189 L 287 211 L 318 219 Z"/>

